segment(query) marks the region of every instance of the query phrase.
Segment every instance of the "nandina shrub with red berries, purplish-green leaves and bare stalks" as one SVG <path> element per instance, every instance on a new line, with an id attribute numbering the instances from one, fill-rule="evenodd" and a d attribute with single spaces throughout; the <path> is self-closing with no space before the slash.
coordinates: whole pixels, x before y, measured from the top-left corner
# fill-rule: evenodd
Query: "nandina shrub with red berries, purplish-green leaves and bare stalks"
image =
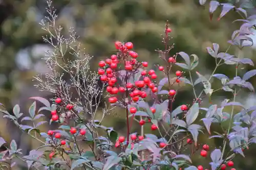
<path id="1" fill-rule="evenodd" d="M 200 1 L 201 4 L 205 2 Z M 253 41 L 248 36 L 251 29 L 255 29 L 250 22 L 255 15 L 247 17 L 244 9 L 231 4 L 210 1 L 209 5 L 210 18 L 219 7 L 223 7 L 219 19 L 231 9 L 244 18 L 240 19 L 244 22 L 240 30 L 234 31 L 228 41 L 230 46 L 236 46 L 242 51 L 245 46 L 252 44 Z M 243 150 L 256 142 L 256 107 L 245 108 L 236 100 L 240 91 L 254 91 L 248 80 L 256 75 L 256 70 L 250 70 L 242 77 L 238 72 L 240 65 L 253 65 L 250 59 L 228 54 L 229 48 L 224 53 L 220 52 L 219 45 L 214 43 L 212 47 L 207 47 L 207 51 L 215 58 L 216 68 L 207 79 L 196 71 L 199 62 L 197 55 L 188 55 L 185 52 L 172 55 L 172 29 L 166 23 L 163 35 L 165 48 L 157 51 L 160 59 L 159 71 L 147 69 L 147 62 L 140 61 L 139 54 L 133 51 L 132 42 L 116 41 L 113 45 L 117 53 L 99 61 L 98 72 L 92 72 L 89 67 L 91 57 L 79 48 L 74 30 L 71 29 L 69 37 L 65 38 L 66 35 L 61 34 L 62 28 L 55 25 L 57 16 L 52 8 L 52 1 L 48 1 L 47 11 L 50 16 L 47 21 L 41 22 L 41 26 L 50 36 L 44 37 L 44 40 L 54 48 L 53 53 L 47 52 L 46 57 L 52 74 L 46 75 L 46 79 L 39 76 L 35 79 L 38 81 L 38 88 L 50 91 L 56 97 L 50 101 L 40 97 L 31 98 L 44 104 L 44 107 L 36 108 L 36 102 L 33 102 L 28 111 L 29 116 L 23 116 L 18 105 L 13 108 L 13 114 L 1 110 L 5 114 L 4 118 L 12 120 L 20 131 L 40 143 L 29 155 L 23 156 L 15 140 L 8 146 L 0 138 L 0 145 L 6 148 L 1 153 L 1 168 L 13 167 L 12 160 L 18 158 L 27 163 L 28 168 L 35 169 L 224 170 L 227 167 L 232 168 L 232 159 L 239 154 L 244 157 Z M 74 58 L 67 59 L 67 55 Z M 183 63 L 176 62 L 181 58 Z M 216 73 L 217 67 L 223 64 L 234 65 L 235 77 L 228 78 L 224 74 Z M 174 65 L 183 70 L 175 71 Z M 70 76 L 69 82 L 63 81 L 63 74 Z M 189 77 L 186 78 L 185 74 Z M 196 74 L 198 79 L 193 80 L 192 74 Z M 211 79 L 219 79 L 222 87 L 212 89 Z M 99 80 L 103 85 L 99 84 Z M 180 90 L 174 89 L 174 85 L 179 83 L 191 86 L 194 100 L 174 108 L 173 103 Z M 195 86 L 200 83 L 203 89 L 199 92 Z M 205 108 L 202 104 L 204 98 L 210 100 L 210 96 L 219 90 L 231 93 L 233 98 L 225 99 L 220 105 L 212 104 Z M 104 103 L 104 99 L 107 99 L 110 106 L 105 104 L 100 111 L 99 106 Z M 240 112 L 235 113 L 235 106 L 241 108 Z M 122 108 L 126 114 L 125 136 L 119 135 L 112 127 L 102 125 L 104 117 L 111 115 L 116 107 Z M 231 107 L 231 112 L 224 112 L 225 107 Z M 36 123 L 36 120 L 45 117 L 41 114 L 42 110 L 49 111 L 52 118 Z M 102 118 L 97 120 L 99 111 Z M 203 117 L 201 121 L 197 121 L 199 114 Z M 223 128 L 225 122 L 228 122 L 227 129 Z M 39 126 L 47 123 L 59 127 L 41 132 Z M 130 133 L 132 123 L 138 123 L 141 126 L 140 131 Z M 145 124 L 150 124 L 151 130 L 161 137 L 145 134 Z M 222 131 L 211 131 L 211 124 L 221 126 Z M 199 133 L 208 133 L 209 140 L 220 138 L 223 145 L 220 149 L 212 148 L 198 141 Z M 207 167 L 193 164 L 191 156 L 194 155 L 210 157 L 211 161 Z"/>

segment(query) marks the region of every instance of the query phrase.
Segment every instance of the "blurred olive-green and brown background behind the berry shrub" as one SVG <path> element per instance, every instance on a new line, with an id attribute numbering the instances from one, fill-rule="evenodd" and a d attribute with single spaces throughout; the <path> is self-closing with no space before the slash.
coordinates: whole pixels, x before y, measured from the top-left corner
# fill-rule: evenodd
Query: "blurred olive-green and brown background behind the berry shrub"
<path id="1" fill-rule="evenodd" d="M 164 31 L 165 21 L 168 20 L 173 30 L 171 42 L 175 43 L 170 55 L 180 51 L 189 55 L 197 54 L 200 60 L 195 70 L 209 77 L 215 68 L 215 59 L 207 54 L 205 48 L 212 43 L 219 43 L 220 51 L 225 52 L 229 45 L 227 40 L 234 30 L 239 29 L 240 23 L 232 23 L 232 21 L 241 18 L 231 11 L 217 21 L 221 12 L 218 9 L 210 21 L 208 5 L 200 6 L 198 0 L 55 0 L 53 5 L 57 9 L 57 24 L 66 29 L 75 28 L 82 47 L 86 48 L 88 54 L 94 56 L 91 64 L 92 69 L 95 70 L 99 60 L 115 53 L 116 40 L 132 41 L 135 51 L 139 54 L 138 60 L 148 61 L 150 67 L 156 70 L 154 65 L 161 64 L 161 61 L 155 50 L 163 49 L 161 34 Z M 28 100 L 30 96 L 46 98 L 52 96 L 34 88 L 35 82 L 32 82 L 33 76 L 49 72 L 44 60 L 41 60 L 44 52 L 51 50 L 48 44 L 42 42 L 41 37 L 46 32 L 41 30 L 39 25 L 40 20 L 47 15 L 45 7 L 45 0 L 0 0 L 0 101 L 10 112 L 15 104 L 19 104 L 21 111 L 27 113 L 31 104 Z M 249 9 L 248 12 L 253 14 L 254 8 Z M 233 55 L 237 52 L 234 47 L 229 51 Z M 242 55 L 256 61 L 253 48 L 244 48 Z M 178 59 L 178 61 L 182 60 Z M 223 65 L 217 69 L 217 72 L 232 78 L 234 69 L 233 65 Z M 255 68 L 247 65 L 241 67 L 239 75 L 250 69 Z M 197 78 L 195 74 L 193 77 Z M 255 78 L 250 81 L 256 85 Z M 219 80 L 214 79 L 212 86 L 218 89 Z M 199 85 L 197 88 L 199 93 L 202 87 Z M 190 86 L 184 86 L 179 94 L 175 107 L 192 102 L 193 93 Z M 223 99 L 231 96 L 228 92 L 220 91 L 213 94 L 212 102 L 219 104 Z M 256 103 L 255 95 L 247 90 L 240 93 L 238 100 L 246 106 Z M 209 105 L 207 100 L 203 104 Z M 21 134 L 5 119 L 0 118 L 0 121 L 0 136 L 7 141 L 13 138 L 19 141 L 19 148 L 22 148 L 24 153 L 37 144 Z M 108 126 L 125 133 L 124 115 L 121 113 L 117 114 L 115 111 L 107 117 L 107 122 Z M 134 125 L 133 131 L 138 131 L 138 127 Z M 218 126 L 213 126 L 212 129 L 218 131 Z M 208 135 L 200 136 L 201 142 L 207 142 L 211 149 L 221 144 L 218 140 L 207 138 Z M 253 161 L 256 159 L 253 154 L 255 149 L 256 147 L 251 147 L 250 150 L 245 151 L 245 159 L 241 159 L 241 156 L 236 158 L 237 169 L 256 169 L 256 162 Z M 205 167 L 209 166 L 205 158 L 195 158 L 196 165 L 201 163 Z"/>

